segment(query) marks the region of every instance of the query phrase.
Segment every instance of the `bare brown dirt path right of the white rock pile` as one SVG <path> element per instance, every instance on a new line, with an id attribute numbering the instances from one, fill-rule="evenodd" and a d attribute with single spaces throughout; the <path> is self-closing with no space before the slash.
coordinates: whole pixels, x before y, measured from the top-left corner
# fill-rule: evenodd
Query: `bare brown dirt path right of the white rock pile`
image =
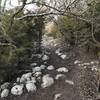
<path id="1" fill-rule="evenodd" d="M 55 54 L 55 51 L 58 48 L 62 49 L 62 51 L 67 55 L 65 60 L 61 59 L 57 54 Z M 66 49 L 63 48 L 63 45 L 49 45 L 46 46 L 46 50 L 50 52 L 50 59 L 48 61 L 48 65 L 53 65 L 56 69 L 60 67 L 66 67 L 69 72 L 65 74 L 65 78 L 55 81 L 55 84 L 51 87 L 45 90 L 40 89 L 35 96 L 32 96 L 34 100 L 54 100 L 54 95 L 57 93 L 61 93 L 61 97 L 57 100 L 82 100 L 77 87 L 76 74 L 78 70 L 74 66 L 75 54 L 73 53 L 73 51 L 69 47 L 66 47 Z M 48 73 L 52 77 L 55 77 L 57 75 L 57 72 L 55 70 L 49 71 Z M 74 85 L 65 83 L 65 80 L 73 81 Z M 27 98 L 27 100 L 32 100 L 29 98 Z"/>

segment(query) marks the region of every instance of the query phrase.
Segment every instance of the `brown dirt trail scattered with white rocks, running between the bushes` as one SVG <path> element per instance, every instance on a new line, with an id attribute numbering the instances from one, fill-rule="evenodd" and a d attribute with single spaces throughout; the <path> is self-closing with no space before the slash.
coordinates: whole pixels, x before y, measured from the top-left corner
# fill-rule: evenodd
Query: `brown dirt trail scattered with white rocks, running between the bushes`
<path id="1" fill-rule="evenodd" d="M 64 43 L 59 44 L 57 42 L 58 43 L 57 44 L 53 40 L 51 42 L 48 43 L 47 41 L 48 45 L 46 45 L 45 43 L 46 46 L 43 45 L 43 48 L 44 52 L 46 51 L 49 53 L 49 60 L 47 61 L 47 65 L 53 65 L 55 69 L 52 71 L 46 70 L 45 73 L 50 74 L 50 76 L 55 79 L 56 75 L 59 74 L 56 71 L 56 69 L 65 67 L 68 69 L 68 72 L 60 73 L 64 74 L 65 77 L 62 77 L 58 80 L 55 79 L 54 84 L 45 89 L 38 87 L 38 90 L 35 93 L 28 93 L 26 92 L 26 90 L 24 90 L 24 93 L 21 96 L 15 97 L 13 95 L 10 95 L 5 100 L 90 100 L 90 99 L 83 99 L 80 96 L 80 91 L 78 87 L 80 80 L 78 80 L 77 76 L 78 75 L 77 73 L 79 73 L 80 68 L 79 66 L 75 66 L 74 64 L 77 55 L 75 55 L 73 49 L 69 45 L 64 45 Z M 66 59 L 62 59 L 55 53 L 57 49 L 61 49 L 61 51 L 66 55 Z M 65 80 L 73 83 L 68 83 L 68 82 L 66 83 Z M 60 94 L 60 97 L 58 97 L 58 99 L 54 99 L 56 94 Z"/>

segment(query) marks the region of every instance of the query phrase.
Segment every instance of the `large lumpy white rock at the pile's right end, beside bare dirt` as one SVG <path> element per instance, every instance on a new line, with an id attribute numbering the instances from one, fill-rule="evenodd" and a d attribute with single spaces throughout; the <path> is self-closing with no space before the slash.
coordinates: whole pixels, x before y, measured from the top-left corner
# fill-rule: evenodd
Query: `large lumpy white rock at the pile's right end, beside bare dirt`
<path id="1" fill-rule="evenodd" d="M 54 84 L 54 79 L 52 77 L 49 76 L 49 74 L 47 75 L 44 75 L 43 78 L 42 78 L 42 88 L 46 88 L 46 87 L 49 87 L 51 86 L 52 84 Z"/>

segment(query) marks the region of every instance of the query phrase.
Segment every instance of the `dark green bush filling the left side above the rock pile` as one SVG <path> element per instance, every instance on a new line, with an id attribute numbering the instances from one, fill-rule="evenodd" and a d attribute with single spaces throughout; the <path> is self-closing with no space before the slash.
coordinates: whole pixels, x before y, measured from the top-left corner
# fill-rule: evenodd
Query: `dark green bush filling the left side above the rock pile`
<path id="1" fill-rule="evenodd" d="M 0 43 L 6 45 L 0 45 L 0 70 L 3 69 L 4 73 L 9 73 L 9 70 L 14 73 L 16 65 L 17 67 L 21 66 L 18 65 L 19 62 L 24 65 L 30 62 L 35 48 L 34 42 L 39 40 L 39 28 L 43 28 L 42 24 L 40 24 L 41 27 L 39 26 L 40 18 L 28 17 L 22 20 L 16 20 L 15 18 L 11 30 L 9 30 L 12 14 L 13 12 L 9 11 L 1 16 L 0 36 L 2 38 L 0 38 Z M 18 16 L 23 16 L 23 13 Z M 8 66 L 10 66 L 9 70 L 5 70 Z M 0 71 L 0 76 L 1 73 L 2 70 Z"/>

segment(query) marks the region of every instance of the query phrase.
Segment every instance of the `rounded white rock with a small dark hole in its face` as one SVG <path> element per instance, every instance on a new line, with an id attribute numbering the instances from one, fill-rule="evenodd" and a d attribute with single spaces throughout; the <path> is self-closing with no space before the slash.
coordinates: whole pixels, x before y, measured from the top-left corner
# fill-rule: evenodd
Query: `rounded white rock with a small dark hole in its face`
<path id="1" fill-rule="evenodd" d="M 11 93 L 13 95 L 21 95 L 23 93 L 23 84 L 21 85 L 15 85 L 14 87 L 12 87 L 11 89 Z"/>

